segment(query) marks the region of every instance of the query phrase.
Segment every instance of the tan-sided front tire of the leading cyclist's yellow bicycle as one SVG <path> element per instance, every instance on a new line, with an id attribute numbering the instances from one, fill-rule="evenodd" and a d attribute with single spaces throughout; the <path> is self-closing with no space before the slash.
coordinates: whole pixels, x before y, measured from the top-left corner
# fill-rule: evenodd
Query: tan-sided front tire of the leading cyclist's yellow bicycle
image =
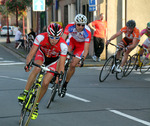
<path id="1" fill-rule="evenodd" d="M 41 90 L 41 86 L 38 85 L 38 88 L 37 88 L 37 91 L 36 91 L 36 94 L 35 94 L 35 97 L 34 97 L 34 98 L 35 98 L 35 99 L 34 99 L 34 103 L 33 103 L 33 105 L 32 105 L 32 109 L 31 109 L 30 114 L 29 114 L 29 116 L 28 116 L 28 119 L 27 119 L 27 121 L 26 121 L 26 123 L 25 123 L 25 126 L 28 126 L 28 125 L 29 125 L 29 122 L 30 122 L 30 120 L 31 120 L 31 116 L 32 116 L 32 114 L 33 114 L 33 112 L 34 112 L 34 110 L 35 110 L 35 106 L 36 106 L 37 100 L 38 100 L 39 95 L 40 95 L 40 90 Z"/>

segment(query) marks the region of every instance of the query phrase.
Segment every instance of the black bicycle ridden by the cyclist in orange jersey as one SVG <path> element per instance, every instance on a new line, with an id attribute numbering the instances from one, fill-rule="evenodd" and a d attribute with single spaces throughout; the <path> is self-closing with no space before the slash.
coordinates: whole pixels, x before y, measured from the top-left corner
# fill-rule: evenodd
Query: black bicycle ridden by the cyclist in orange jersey
<path id="1" fill-rule="evenodd" d="M 121 51 L 123 48 L 119 47 L 118 45 L 114 45 L 112 43 L 110 43 L 111 45 L 116 47 L 116 51 L 113 55 L 111 55 L 106 62 L 104 63 L 100 74 L 99 74 L 99 81 L 103 82 L 104 80 L 106 80 L 106 78 L 109 76 L 110 73 L 114 74 L 116 73 L 116 79 L 120 80 L 122 77 L 124 77 L 124 75 L 126 74 L 126 72 L 128 71 L 128 66 L 130 64 L 130 55 L 128 56 L 128 60 L 124 65 L 124 69 L 122 72 L 116 72 L 115 68 L 119 68 L 120 67 L 120 63 L 123 57 L 123 54 L 121 55 L 121 57 L 119 58 L 119 62 L 117 62 L 117 52 Z"/>

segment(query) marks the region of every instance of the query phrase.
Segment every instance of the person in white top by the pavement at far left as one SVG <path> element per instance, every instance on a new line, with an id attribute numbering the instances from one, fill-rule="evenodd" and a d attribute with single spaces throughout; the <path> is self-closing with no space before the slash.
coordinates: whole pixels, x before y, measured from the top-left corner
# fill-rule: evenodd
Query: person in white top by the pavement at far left
<path id="1" fill-rule="evenodd" d="M 15 42 L 16 42 L 15 48 L 16 49 L 18 49 L 21 45 L 24 46 L 24 40 L 21 38 L 22 38 L 21 28 L 18 27 L 18 30 L 16 31 L 16 34 L 15 34 Z"/>

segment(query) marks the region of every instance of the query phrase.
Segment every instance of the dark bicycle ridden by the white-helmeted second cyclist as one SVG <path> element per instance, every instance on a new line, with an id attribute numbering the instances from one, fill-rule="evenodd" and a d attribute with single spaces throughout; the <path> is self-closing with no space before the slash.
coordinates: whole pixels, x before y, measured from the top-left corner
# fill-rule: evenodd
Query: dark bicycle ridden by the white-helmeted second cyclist
<path id="1" fill-rule="evenodd" d="M 66 80 L 66 75 L 67 75 L 67 71 L 68 71 L 68 68 L 69 68 L 69 64 L 70 64 L 73 56 L 75 57 L 75 55 L 73 55 L 72 53 L 67 52 L 67 58 L 66 58 L 66 61 L 65 61 L 65 69 L 64 69 L 64 74 L 63 74 L 63 77 L 62 77 L 62 81 L 59 82 L 59 83 L 55 83 L 56 77 L 54 77 L 52 79 L 52 81 L 50 82 L 51 84 L 53 84 L 53 86 L 52 86 L 50 99 L 47 103 L 47 108 L 49 108 L 51 102 L 54 101 L 54 98 L 55 98 L 57 92 L 58 92 L 58 96 L 61 97 L 62 85 L 63 85 L 64 81 Z"/>

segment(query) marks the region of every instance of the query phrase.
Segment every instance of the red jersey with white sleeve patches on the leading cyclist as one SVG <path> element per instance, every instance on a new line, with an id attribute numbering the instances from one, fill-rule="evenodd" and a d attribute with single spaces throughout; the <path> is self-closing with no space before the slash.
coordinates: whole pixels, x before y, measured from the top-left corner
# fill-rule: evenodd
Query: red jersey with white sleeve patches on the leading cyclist
<path id="1" fill-rule="evenodd" d="M 44 32 L 36 36 L 34 43 L 35 46 L 40 45 L 40 50 L 45 54 L 46 57 L 58 57 L 66 56 L 68 47 L 65 40 L 60 37 L 58 43 L 56 45 L 51 45 L 49 42 L 48 33 Z"/>

